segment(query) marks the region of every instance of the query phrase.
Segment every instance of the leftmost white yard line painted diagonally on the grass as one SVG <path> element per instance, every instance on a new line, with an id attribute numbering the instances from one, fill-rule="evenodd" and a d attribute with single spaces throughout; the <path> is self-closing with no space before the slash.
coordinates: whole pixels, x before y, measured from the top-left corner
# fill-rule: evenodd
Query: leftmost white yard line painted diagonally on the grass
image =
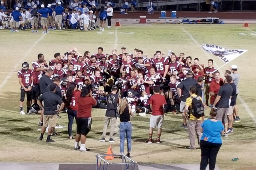
<path id="1" fill-rule="evenodd" d="M 42 37 L 39 38 L 39 39 L 30 47 L 30 49 L 28 49 L 28 51 L 25 53 L 25 55 L 24 55 L 22 58 L 20 58 L 20 61 L 17 62 L 17 63 L 14 65 L 13 70 L 9 72 L 9 74 L 6 76 L 6 78 L 4 79 L 4 81 L 0 84 L 0 90 L 2 89 L 2 87 L 4 87 L 4 85 L 7 83 L 7 81 L 12 77 L 12 74 L 17 71 L 18 66 L 24 61 L 24 59 L 26 59 L 26 57 L 28 57 L 28 55 L 30 54 L 30 52 L 32 51 L 32 49 L 34 49 L 34 47 L 36 46 L 36 44 L 37 44 L 38 42 L 40 42 L 40 41 L 44 38 L 45 35 L 46 35 L 46 34 L 43 34 Z"/>

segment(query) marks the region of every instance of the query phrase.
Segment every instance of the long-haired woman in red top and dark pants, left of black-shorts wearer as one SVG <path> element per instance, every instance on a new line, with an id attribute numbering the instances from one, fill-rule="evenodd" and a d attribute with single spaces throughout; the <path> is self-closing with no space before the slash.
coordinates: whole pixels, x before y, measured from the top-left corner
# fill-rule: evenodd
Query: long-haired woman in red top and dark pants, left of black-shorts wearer
<path id="1" fill-rule="evenodd" d="M 74 118 L 76 119 L 76 112 L 78 110 L 77 99 L 80 97 L 81 89 L 76 87 L 75 83 L 70 83 L 66 93 L 66 106 L 68 107 L 68 138 L 73 139 L 72 125 Z"/>

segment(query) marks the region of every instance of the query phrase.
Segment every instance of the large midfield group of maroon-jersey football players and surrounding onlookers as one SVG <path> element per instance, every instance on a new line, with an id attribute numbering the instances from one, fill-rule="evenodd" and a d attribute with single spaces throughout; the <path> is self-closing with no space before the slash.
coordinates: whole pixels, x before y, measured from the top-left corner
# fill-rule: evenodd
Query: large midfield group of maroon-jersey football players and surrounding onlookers
<path id="1" fill-rule="evenodd" d="M 56 134 L 54 127 L 57 117 L 60 117 L 58 113 L 64 111 L 68 113 L 70 139 L 73 138 L 72 124 L 76 119 L 75 149 L 86 151 L 85 141 L 92 123 L 92 108 L 106 109 L 101 142 L 106 141 L 108 126 L 109 142 L 115 142 L 114 127 L 120 117 L 120 152 L 124 153 L 126 135 L 128 156 L 132 136 L 130 116 L 151 114 L 149 138 L 146 142 L 160 143 L 165 113 L 181 113 L 181 127 L 188 128 L 190 138 L 188 149 L 196 148 L 195 134 L 201 148 L 205 148 L 207 142 L 214 142 L 208 141 L 208 138 L 216 138 L 209 129 L 205 130 L 208 127 L 205 127 L 204 110 L 208 106 L 212 108 L 211 116 L 214 119 L 208 123 L 217 120 L 221 122 L 225 137 L 234 131 L 233 122 L 240 121 L 236 108 L 239 92 L 236 65 L 225 71 L 223 80 L 220 72 L 213 67 L 212 59 L 205 66 L 198 58 L 192 60 L 192 57 L 186 57 L 184 53 L 176 55 L 171 50 L 168 50 L 167 57 L 161 51 L 149 57 L 139 49 L 134 49 L 132 53 L 128 53 L 126 47 L 121 50 L 119 55 L 116 49 L 111 54 L 104 54 L 104 49 L 98 47 L 98 53 L 91 55 L 85 51 L 82 55 L 76 48 L 72 48 L 63 55 L 55 53 L 49 63 L 42 53 L 38 54 L 38 59 L 32 62 L 32 69 L 27 62 L 22 63 L 22 69 L 18 71 L 21 85 L 20 114 L 41 114 L 39 125 L 44 128 L 40 140 L 45 128 L 49 127 L 52 129 L 48 130 L 46 142 L 54 142 L 50 136 Z M 26 113 L 23 109 L 25 95 Z M 152 140 L 154 128 L 157 128 L 156 140 Z M 202 132 L 206 136 L 202 136 Z M 220 137 L 220 132 L 216 132 L 219 134 L 217 137 Z M 201 144 L 202 140 L 206 142 Z M 216 147 L 220 148 L 220 144 Z M 209 157 L 210 153 L 204 154 Z M 205 159 L 202 162 L 206 162 Z"/>

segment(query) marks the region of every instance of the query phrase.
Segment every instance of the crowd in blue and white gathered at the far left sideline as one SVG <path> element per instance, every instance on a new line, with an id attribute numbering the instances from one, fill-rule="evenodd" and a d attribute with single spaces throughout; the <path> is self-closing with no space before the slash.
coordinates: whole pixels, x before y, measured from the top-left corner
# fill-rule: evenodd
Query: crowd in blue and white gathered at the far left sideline
<path id="1" fill-rule="evenodd" d="M 100 31 L 104 31 L 105 22 L 108 20 L 108 28 L 111 27 L 111 18 L 113 8 L 111 3 L 107 6 L 101 6 L 97 11 L 96 4 L 89 8 L 86 3 L 80 2 L 76 8 L 63 8 L 62 2 L 48 4 L 35 4 L 29 8 L 20 8 L 16 6 L 14 11 L 9 14 L 6 11 L 4 2 L 1 2 L 0 8 L 0 29 L 11 29 L 14 32 L 19 30 L 32 29 L 32 32 L 38 32 L 38 28 L 43 28 L 42 33 L 48 33 L 49 30 L 62 29 L 80 29 L 84 31 L 95 30 L 97 19 L 100 21 Z M 90 10 L 89 10 L 90 9 Z"/>

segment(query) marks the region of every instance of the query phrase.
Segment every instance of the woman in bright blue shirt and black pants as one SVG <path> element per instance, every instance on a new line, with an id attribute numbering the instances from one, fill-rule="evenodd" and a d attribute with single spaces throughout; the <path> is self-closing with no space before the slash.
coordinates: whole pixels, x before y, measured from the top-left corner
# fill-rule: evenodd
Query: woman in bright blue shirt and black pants
<path id="1" fill-rule="evenodd" d="M 210 119 L 204 121 L 200 128 L 202 132 L 200 140 L 200 170 L 205 170 L 207 164 L 209 164 L 209 170 L 214 170 L 217 154 L 222 145 L 221 134 L 224 134 L 224 126 L 221 121 L 217 121 L 216 115 L 217 110 L 212 108 L 210 111 Z"/>

